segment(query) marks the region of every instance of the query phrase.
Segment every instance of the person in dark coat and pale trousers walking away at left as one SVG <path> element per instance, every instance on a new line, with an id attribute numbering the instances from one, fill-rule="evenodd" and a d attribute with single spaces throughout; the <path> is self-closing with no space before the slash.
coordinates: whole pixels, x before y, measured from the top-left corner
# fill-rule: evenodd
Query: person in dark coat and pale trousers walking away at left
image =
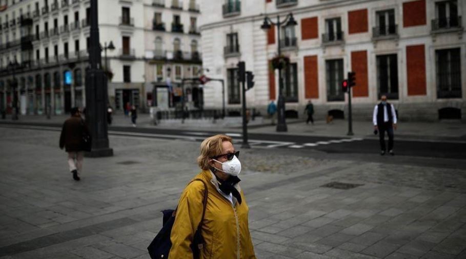
<path id="1" fill-rule="evenodd" d="M 73 107 L 71 108 L 71 117 L 65 121 L 62 127 L 60 149 L 65 147 L 65 151 L 68 153 L 68 165 L 75 181 L 80 180 L 78 174 L 82 173 L 83 170 L 83 133 L 90 136 L 89 129 L 81 118 L 79 108 Z"/>

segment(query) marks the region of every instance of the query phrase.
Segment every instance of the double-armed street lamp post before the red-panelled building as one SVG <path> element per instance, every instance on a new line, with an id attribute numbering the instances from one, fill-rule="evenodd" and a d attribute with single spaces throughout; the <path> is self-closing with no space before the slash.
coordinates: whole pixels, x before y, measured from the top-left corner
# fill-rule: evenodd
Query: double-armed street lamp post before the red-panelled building
<path id="1" fill-rule="evenodd" d="M 264 17 L 264 23 L 260 26 L 262 30 L 268 31 L 272 26 L 277 28 L 277 46 L 278 46 L 278 57 L 280 57 L 280 27 L 281 26 L 296 26 L 297 23 L 292 13 L 289 13 L 282 22 L 280 22 L 280 16 L 277 15 L 277 22 L 273 22 L 268 16 Z M 283 97 L 283 78 L 281 76 L 281 66 L 278 66 L 278 123 L 277 131 L 288 131 L 287 122 L 285 119 L 285 97 Z"/>

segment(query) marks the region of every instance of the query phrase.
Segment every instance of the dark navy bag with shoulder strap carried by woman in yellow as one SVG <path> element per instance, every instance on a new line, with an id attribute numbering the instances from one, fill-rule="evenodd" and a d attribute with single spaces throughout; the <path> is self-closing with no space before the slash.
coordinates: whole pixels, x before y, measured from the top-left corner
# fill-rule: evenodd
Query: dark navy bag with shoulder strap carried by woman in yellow
<path id="1" fill-rule="evenodd" d="M 194 181 L 201 181 L 204 184 L 204 200 L 202 201 L 202 217 L 200 219 L 199 225 L 197 225 L 196 232 L 194 233 L 193 243 L 190 245 L 193 252 L 193 259 L 198 259 L 200 254 L 200 249 L 204 245 L 204 238 L 200 233 L 202 226 L 202 221 L 204 221 L 204 215 L 206 214 L 206 205 L 207 205 L 207 185 L 204 181 L 200 179 L 194 179 Z M 178 208 L 178 207 L 177 207 Z M 170 235 L 172 232 L 173 224 L 175 223 L 176 210 L 163 210 L 161 211 L 164 214 L 163 217 L 163 227 L 154 237 L 147 250 L 152 259 L 161 259 L 168 258 L 170 248 L 172 247 L 172 242 L 170 240 Z"/>

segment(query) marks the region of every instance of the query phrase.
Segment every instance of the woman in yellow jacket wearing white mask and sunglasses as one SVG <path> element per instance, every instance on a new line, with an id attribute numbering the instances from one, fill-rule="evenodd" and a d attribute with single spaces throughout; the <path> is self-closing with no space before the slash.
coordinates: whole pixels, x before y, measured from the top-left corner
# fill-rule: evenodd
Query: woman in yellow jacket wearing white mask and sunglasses
<path id="1" fill-rule="evenodd" d="M 193 179 L 204 181 L 208 189 L 201 224 L 201 259 L 256 259 L 249 233 L 249 208 L 238 185 L 238 156 L 239 151 L 226 135 L 208 137 L 200 145 L 197 163 L 202 172 Z M 202 217 L 204 190 L 203 183 L 194 181 L 181 194 L 171 232 L 170 259 L 193 258 L 190 245 Z"/>

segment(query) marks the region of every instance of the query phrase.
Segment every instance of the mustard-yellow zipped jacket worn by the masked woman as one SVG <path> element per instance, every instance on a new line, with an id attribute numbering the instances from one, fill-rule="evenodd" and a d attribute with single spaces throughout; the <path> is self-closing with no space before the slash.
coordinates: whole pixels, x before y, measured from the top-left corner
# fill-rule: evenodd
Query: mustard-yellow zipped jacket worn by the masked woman
<path id="1" fill-rule="evenodd" d="M 211 171 L 202 171 L 193 179 L 201 179 L 208 186 L 201 230 L 205 244 L 200 251 L 200 259 L 256 259 L 249 233 L 249 208 L 239 185 L 235 188 L 241 193 L 242 202 L 239 204 L 233 197 L 233 206 L 218 189 L 218 182 Z M 202 217 L 204 189 L 202 182 L 194 181 L 181 193 L 171 232 L 170 259 L 193 258 L 189 246 Z"/>

